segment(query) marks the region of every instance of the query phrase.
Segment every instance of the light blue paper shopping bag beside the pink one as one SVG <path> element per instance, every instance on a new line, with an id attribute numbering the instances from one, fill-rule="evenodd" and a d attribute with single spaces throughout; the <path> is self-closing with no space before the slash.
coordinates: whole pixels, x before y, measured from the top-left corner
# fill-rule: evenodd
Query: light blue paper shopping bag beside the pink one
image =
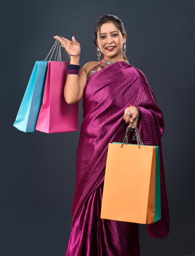
<path id="1" fill-rule="evenodd" d="M 36 61 L 13 126 L 22 132 L 34 132 L 42 106 L 48 61 Z"/>

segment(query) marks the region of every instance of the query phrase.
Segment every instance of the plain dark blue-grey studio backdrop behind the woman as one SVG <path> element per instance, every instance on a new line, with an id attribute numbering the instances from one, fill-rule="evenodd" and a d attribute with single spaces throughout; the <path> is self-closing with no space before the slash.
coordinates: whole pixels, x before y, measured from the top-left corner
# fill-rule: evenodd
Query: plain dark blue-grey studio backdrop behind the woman
<path id="1" fill-rule="evenodd" d="M 75 36 L 81 66 L 97 61 L 94 24 L 104 13 L 123 20 L 129 61 L 144 72 L 164 113 L 170 234 L 151 239 L 140 225 L 141 255 L 195 254 L 195 1 L 21 0 L 4 2 L 1 12 L 1 255 L 65 255 L 79 132 L 24 133 L 13 122 L 35 61 L 45 59 L 53 36 Z M 82 115 L 80 101 L 79 131 Z"/>

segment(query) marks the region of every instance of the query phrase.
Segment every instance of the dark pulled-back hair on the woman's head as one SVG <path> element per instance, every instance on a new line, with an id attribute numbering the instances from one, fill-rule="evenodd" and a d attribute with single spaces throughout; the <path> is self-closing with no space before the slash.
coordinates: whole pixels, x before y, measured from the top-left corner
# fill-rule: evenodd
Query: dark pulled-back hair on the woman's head
<path id="1" fill-rule="evenodd" d="M 95 34 L 94 43 L 95 43 L 96 46 L 98 46 L 98 44 L 97 44 L 97 33 L 98 33 L 101 25 L 103 23 L 107 23 L 107 22 L 113 22 L 114 25 L 121 31 L 122 36 L 124 36 L 124 34 L 126 34 L 126 37 L 127 37 L 127 32 L 126 32 L 126 29 L 123 25 L 123 22 L 118 17 L 116 17 L 114 15 L 110 15 L 110 14 L 103 14 L 102 16 L 99 17 L 99 19 L 97 20 L 97 22 L 95 24 L 95 27 L 94 27 L 94 34 Z M 123 56 L 123 58 L 126 61 L 129 61 L 126 55 Z"/>

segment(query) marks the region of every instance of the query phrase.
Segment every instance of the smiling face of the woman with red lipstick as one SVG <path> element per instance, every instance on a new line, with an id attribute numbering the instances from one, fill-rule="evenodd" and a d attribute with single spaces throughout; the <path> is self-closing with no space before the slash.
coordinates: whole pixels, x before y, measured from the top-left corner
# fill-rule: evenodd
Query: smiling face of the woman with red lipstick
<path id="1" fill-rule="evenodd" d="M 113 22 L 101 25 L 97 33 L 97 43 L 106 61 L 124 61 L 121 50 L 125 42 L 126 34 L 122 36 L 121 31 Z M 114 46 L 114 48 L 109 51 L 106 49 L 109 46 Z"/>

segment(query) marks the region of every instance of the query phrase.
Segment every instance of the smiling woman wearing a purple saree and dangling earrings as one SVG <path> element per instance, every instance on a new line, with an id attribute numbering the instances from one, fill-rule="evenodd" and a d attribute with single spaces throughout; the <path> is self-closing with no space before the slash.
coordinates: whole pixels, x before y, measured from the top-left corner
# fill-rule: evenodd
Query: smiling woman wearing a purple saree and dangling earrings
<path id="1" fill-rule="evenodd" d="M 151 238 L 169 233 L 169 209 L 164 180 L 161 137 L 162 111 L 145 75 L 129 64 L 127 34 L 123 22 L 113 15 L 101 16 L 95 25 L 94 43 L 101 61 L 79 70 L 81 48 L 72 36 L 58 39 L 70 55 L 64 97 L 74 104 L 83 97 L 83 122 L 77 150 L 76 189 L 72 204 L 72 231 L 66 256 L 139 256 L 137 223 L 100 218 L 108 144 L 122 142 L 127 124 L 138 127 L 145 145 L 159 146 L 162 218 L 147 225 Z M 133 140 L 130 132 L 129 143 Z M 133 159 L 124 159 L 131 161 Z"/>

